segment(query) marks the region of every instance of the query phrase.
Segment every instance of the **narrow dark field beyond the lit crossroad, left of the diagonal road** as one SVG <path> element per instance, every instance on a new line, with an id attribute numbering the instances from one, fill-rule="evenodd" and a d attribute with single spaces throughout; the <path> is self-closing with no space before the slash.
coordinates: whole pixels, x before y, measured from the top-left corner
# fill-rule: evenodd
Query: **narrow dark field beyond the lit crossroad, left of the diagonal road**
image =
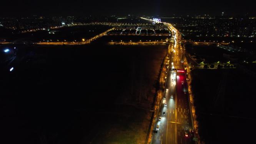
<path id="1" fill-rule="evenodd" d="M 27 33 L 15 33 L 13 30 L 0 29 L 0 32 L 7 33 L 7 35 L 1 35 L 0 39 L 6 41 L 82 41 L 82 38 L 88 39 L 95 35 L 98 35 L 108 29 L 112 28 L 107 25 L 83 25 L 83 26 L 69 26 L 63 28 L 56 28 L 47 30 L 32 31 Z M 50 33 L 49 33 L 50 32 Z"/>

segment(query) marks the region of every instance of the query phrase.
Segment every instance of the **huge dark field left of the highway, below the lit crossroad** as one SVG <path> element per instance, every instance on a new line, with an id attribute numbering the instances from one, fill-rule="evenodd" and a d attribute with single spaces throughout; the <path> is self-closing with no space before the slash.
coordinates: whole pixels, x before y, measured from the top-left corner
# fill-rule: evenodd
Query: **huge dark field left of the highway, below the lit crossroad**
<path id="1" fill-rule="evenodd" d="M 0 143 L 144 144 L 165 46 L 17 48 L 1 67 Z"/>

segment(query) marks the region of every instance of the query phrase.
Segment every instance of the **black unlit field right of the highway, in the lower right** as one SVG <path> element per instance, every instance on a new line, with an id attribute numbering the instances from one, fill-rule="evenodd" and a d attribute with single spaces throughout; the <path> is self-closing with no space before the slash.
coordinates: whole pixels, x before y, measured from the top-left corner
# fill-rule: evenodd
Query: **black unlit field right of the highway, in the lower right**
<path id="1" fill-rule="evenodd" d="M 254 143 L 256 78 L 240 69 L 193 70 L 192 77 L 201 139 L 206 144 Z"/>

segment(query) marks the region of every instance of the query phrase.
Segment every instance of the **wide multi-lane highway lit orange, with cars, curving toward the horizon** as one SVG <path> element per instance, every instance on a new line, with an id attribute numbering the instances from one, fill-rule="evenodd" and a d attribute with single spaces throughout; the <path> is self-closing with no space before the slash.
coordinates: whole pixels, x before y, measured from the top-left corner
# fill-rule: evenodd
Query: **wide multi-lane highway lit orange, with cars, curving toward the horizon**
<path id="1" fill-rule="evenodd" d="M 155 123 L 154 129 L 157 130 L 157 133 L 153 133 L 151 143 L 191 144 L 194 143 L 194 128 L 191 119 L 186 71 L 183 65 L 185 50 L 181 46 L 180 32 L 170 23 L 164 24 L 172 31 L 174 43 L 169 55 L 170 63 L 163 104 L 158 113 L 158 119 L 161 118 L 161 120 Z"/>

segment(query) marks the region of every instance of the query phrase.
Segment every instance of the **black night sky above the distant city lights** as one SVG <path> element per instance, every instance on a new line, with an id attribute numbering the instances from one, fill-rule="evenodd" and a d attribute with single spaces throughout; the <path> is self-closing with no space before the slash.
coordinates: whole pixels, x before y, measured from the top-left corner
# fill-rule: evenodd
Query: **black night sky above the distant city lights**
<path id="1" fill-rule="evenodd" d="M 0 16 L 255 15 L 252 0 L 3 0 Z"/>

